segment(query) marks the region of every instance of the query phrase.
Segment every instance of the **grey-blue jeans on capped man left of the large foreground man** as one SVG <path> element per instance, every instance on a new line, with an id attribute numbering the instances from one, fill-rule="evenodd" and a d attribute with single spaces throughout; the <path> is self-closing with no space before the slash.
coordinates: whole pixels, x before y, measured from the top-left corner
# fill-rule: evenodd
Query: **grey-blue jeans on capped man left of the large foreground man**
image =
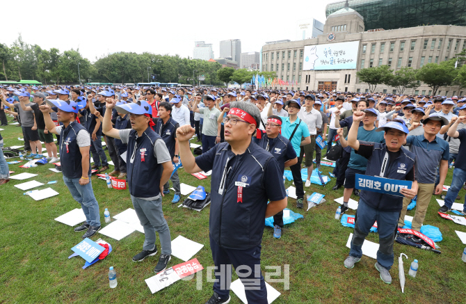
<path id="1" fill-rule="evenodd" d="M 154 250 L 156 248 L 155 232 L 159 232 L 161 253 L 163 255 L 172 254 L 172 239 L 170 228 L 163 217 L 162 197 L 156 200 L 142 200 L 131 195 L 134 210 L 138 215 L 140 225 L 144 228 L 145 240 L 143 250 Z"/>

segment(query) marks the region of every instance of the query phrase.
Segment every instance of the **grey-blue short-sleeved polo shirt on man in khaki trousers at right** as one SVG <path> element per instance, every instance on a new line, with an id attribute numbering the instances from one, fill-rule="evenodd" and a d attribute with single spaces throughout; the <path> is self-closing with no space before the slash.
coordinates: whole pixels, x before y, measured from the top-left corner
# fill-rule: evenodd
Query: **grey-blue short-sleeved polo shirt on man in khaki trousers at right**
<path id="1" fill-rule="evenodd" d="M 433 184 L 437 177 L 437 166 L 441 160 L 448 161 L 450 157 L 450 147 L 447 141 L 435 136 L 429 141 L 424 134 L 418 136 L 408 136 L 406 145 L 410 146 L 410 152 L 417 157 L 417 182 L 422 184 Z M 458 155 L 459 157 L 459 155 Z"/>

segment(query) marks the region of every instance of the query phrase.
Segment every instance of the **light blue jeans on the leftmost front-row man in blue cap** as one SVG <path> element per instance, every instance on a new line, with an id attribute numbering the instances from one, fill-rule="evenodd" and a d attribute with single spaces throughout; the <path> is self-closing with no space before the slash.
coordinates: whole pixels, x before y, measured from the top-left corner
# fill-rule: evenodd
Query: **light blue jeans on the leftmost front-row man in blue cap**
<path id="1" fill-rule="evenodd" d="M 79 184 L 79 178 L 68 178 L 63 176 L 63 182 L 70 190 L 70 193 L 74 200 L 81 204 L 84 215 L 86 216 L 86 223 L 93 227 L 100 226 L 100 214 L 99 214 L 99 203 L 95 199 L 93 184 L 89 183 L 81 186 Z"/>

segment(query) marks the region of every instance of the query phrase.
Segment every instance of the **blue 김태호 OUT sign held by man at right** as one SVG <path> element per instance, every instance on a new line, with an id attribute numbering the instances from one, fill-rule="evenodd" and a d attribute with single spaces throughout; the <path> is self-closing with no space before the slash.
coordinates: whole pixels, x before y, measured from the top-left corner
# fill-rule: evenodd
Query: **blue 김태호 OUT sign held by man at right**
<path id="1" fill-rule="evenodd" d="M 411 189 L 412 182 L 407 180 L 389 179 L 363 174 L 356 174 L 356 189 L 391 194 L 404 197 L 401 189 Z"/>

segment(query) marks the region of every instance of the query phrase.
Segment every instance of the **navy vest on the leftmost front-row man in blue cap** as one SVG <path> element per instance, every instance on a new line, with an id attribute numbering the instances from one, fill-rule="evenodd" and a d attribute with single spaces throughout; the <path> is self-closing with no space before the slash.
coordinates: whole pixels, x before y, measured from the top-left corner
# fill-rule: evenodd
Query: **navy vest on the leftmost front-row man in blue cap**
<path id="1" fill-rule="evenodd" d="M 77 121 L 71 122 L 66 128 L 65 126 L 61 128 L 60 163 L 63 175 L 68 178 L 81 178 L 83 175 L 82 155 L 77 143 L 78 132 L 81 130 L 86 131 Z M 90 175 L 90 158 L 88 175 Z"/>

